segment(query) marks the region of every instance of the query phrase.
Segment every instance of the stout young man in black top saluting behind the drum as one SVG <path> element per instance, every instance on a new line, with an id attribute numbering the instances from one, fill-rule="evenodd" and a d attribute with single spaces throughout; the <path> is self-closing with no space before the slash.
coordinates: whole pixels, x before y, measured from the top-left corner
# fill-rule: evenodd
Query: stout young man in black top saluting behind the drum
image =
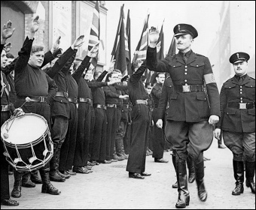
<path id="1" fill-rule="evenodd" d="M 22 106 L 26 98 L 29 97 L 30 102 L 23 105 L 24 112 L 43 116 L 50 127 L 50 103 L 53 96 L 56 95 L 58 87 L 54 80 L 50 79 L 40 68 L 44 62 L 44 46 L 32 46 L 35 33 L 39 28 L 38 18 L 37 16 L 32 20 L 29 35 L 18 53 L 19 58 L 14 68 L 14 83 L 17 93 L 17 101 L 14 103 L 14 107 Z M 39 169 L 43 182 L 41 192 L 57 195 L 61 192 L 50 184 L 49 170 L 49 163 Z M 14 175 L 14 179 L 16 179 L 14 187 L 17 187 L 15 183 L 20 183 L 17 178 L 20 179 L 20 175 L 18 177 Z M 17 195 L 20 196 L 20 187 L 17 187 L 17 189 Z"/>

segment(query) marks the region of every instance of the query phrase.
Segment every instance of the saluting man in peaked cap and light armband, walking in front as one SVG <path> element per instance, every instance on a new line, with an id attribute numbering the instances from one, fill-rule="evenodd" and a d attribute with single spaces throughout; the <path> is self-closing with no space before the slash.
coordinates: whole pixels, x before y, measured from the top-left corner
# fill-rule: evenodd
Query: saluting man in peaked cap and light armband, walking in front
<path id="1" fill-rule="evenodd" d="M 188 24 L 178 24 L 173 31 L 178 54 L 167 55 L 157 61 L 159 32 L 151 28 L 147 67 L 151 71 L 168 72 L 172 78 L 173 92 L 165 133 L 175 151 L 178 181 L 176 208 L 185 208 L 190 201 L 187 190 L 187 152 L 194 160 L 198 196 L 201 201 L 207 199 L 203 181 L 203 151 L 212 143 L 212 125 L 219 120 L 220 101 L 209 58 L 191 50 L 194 38 L 198 35 L 197 29 Z"/>

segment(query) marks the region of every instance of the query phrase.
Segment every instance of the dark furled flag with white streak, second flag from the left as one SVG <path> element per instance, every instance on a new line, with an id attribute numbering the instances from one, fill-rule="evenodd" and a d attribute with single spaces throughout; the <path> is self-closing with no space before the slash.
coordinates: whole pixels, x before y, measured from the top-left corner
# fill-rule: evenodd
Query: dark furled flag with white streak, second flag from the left
<path id="1" fill-rule="evenodd" d="M 124 5 L 123 5 L 124 6 Z M 126 35 L 126 23 L 123 13 L 123 6 L 120 9 L 120 19 L 117 27 L 117 34 L 114 40 L 114 47 L 111 52 L 112 58 L 115 59 L 114 68 L 122 72 L 123 77 L 128 74 L 127 64 L 129 58 L 128 39 Z"/>

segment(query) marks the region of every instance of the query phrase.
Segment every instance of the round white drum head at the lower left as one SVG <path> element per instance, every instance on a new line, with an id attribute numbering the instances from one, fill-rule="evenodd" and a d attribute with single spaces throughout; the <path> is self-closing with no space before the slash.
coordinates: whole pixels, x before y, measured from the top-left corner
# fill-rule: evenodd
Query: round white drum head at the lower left
<path id="1" fill-rule="evenodd" d="M 1 137 L 5 142 L 11 144 L 26 144 L 43 136 L 45 130 L 47 130 L 47 121 L 41 115 L 27 113 L 10 121 L 5 121 L 1 127 Z"/>

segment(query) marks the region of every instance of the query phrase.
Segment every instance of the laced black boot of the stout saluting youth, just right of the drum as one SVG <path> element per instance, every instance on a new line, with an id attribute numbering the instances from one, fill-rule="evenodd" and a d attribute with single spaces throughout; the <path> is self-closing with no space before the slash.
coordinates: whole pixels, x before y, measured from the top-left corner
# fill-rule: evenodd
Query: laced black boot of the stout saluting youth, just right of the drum
<path id="1" fill-rule="evenodd" d="M 50 184 L 49 178 L 49 169 L 39 169 L 41 180 L 43 181 L 43 185 L 41 186 L 42 193 L 49 193 L 51 195 L 58 195 L 60 190 L 53 187 L 53 184 Z"/>

